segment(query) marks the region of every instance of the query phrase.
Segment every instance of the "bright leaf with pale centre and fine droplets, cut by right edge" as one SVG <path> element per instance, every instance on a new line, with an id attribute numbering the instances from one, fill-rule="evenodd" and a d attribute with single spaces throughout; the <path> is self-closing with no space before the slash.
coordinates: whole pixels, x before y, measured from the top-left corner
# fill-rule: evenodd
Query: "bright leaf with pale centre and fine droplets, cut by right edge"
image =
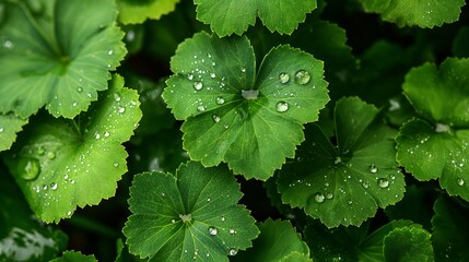
<path id="1" fill-rule="evenodd" d="M 411 70 L 404 95 L 421 118 L 404 123 L 397 159 L 419 180 L 439 179 L 449 194 L 469 200 L 469 59 L 447 59 L 439 69 Z"/>

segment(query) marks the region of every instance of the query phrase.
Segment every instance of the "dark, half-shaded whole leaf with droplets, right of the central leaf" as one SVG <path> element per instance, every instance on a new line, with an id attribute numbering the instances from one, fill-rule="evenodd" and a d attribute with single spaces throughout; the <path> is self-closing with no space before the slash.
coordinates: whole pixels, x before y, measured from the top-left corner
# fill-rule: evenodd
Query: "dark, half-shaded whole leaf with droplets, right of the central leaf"
<path id="1" fill-rule="evenodd" d="M 318 126 L 309 126 L 298 160 L 280 171 L 277 183 L 282 201 L 336 227 L 361 225 L 377 207 L 401 200 L 404 181 L 395 160 L 396 132 L 377 114 L 356 97 L 339 100 L 337 146 Z"/>

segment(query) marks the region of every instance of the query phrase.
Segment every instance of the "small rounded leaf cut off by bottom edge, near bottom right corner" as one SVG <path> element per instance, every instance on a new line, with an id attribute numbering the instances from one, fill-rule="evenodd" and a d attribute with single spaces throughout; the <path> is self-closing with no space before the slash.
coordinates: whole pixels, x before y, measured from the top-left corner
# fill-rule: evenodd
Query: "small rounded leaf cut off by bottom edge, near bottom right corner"
<path id="1" fill-rule="evenodd" d="M 433 247 L 430 233 L 419 227 L 401 227 L 384 239 L 384 254 L 387 262 L 421 261 L 433 262 Z"/>

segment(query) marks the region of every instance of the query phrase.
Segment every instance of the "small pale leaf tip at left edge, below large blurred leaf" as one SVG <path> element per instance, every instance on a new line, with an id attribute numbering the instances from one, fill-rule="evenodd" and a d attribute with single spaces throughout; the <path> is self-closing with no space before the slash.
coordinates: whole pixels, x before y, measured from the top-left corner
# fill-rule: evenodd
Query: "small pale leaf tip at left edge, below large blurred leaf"
<path id="1" fill-rule="evenodd" d="M 0 152 L 9 150 L 16 140 L 16 133 L 27 123 L 27 119 L 15 117 L 13 114 L 0 114 Z"/>

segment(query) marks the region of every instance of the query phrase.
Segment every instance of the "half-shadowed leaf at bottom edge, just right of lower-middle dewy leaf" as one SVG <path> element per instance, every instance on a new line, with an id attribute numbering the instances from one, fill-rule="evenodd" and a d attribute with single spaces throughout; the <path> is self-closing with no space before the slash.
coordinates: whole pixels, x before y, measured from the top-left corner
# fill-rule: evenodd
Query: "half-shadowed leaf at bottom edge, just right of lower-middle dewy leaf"
<path id="1" fill-rule="evenodd" d="M 312 261 L 308 247 L 290 222 L 268 218 L 258 227 L 260 235 L 254 240 L 253 248 L 239 252 L 234 261 Z"/>

